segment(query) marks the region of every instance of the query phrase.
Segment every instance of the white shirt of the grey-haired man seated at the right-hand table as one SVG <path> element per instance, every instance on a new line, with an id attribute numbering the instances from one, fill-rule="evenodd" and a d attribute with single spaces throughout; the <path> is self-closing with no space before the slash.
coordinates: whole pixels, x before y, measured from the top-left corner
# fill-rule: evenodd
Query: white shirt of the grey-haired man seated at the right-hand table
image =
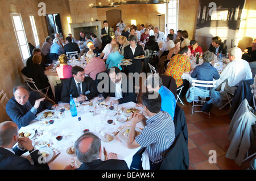
<path id="1" fill-rule="evenodd" d="M 230 62 L 220 74 L 222 82 L 228 79 L 229 87 L 237 86 L 241 81 L 252 77 L 249 63 L 242 59 L 235 59 Z"/>

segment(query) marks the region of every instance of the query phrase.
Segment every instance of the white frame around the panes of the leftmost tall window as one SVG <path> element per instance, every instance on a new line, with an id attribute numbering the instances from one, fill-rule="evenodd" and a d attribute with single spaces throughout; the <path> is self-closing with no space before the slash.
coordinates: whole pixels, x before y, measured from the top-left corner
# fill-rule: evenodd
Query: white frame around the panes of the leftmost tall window
<path id="1" fill-rule="evenodd" d="M 13 28 L 14 28 L 14 32 L 15 32 L 15 37 L 16 37 L 16 40 L 17 40 L 17 43 L 18 43 L 18 47 L 19 47 L 19 52 L 20 52 L 20 56 L 22 58 L 22 62 L 26 62 L 27 61 L 27 58 L 30 57 L 30 49 L 28 47 L 28 43 L 27 43 L 27 36 L 26 36 L 26 32 L 25 32 L 25 29 L 24 29 L 24 25 L 23 25 L 23 20 L 22 20 L 22 16 L 19 14 L 19 13 L 11 13 L 11 22 L 13 23 Z M 23 35 L 24 35 L 24 39 L 26 41 L 26 44 L 20 44 L 19 42 L 19 38 L 18 38 L 18 33 L 19 31 L 16 30 L 16 26 L 15 26 L 15 23 L 14 23 L 14 16 L 19 16 L 20 18 L 20 24 L 22 26 L 22 30 L 19 30 L 19 31 L 23 31 Z M 22 52 L 22 46 L 26 45 L 26 48 L 27 48 L 27 53 L 28 53 L 28 57 L 24 58 L 24 55 L 23 55 L 23 52 Z"/>

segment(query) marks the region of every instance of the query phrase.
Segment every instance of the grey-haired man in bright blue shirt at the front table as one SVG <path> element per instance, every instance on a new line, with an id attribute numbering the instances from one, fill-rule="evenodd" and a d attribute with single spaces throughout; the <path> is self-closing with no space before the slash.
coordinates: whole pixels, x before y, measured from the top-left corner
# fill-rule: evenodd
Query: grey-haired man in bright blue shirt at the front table
<path id="1" fill-rule="evenodd" d="M 147 87 L 148 91 L 158 92 L 161 96 L 161 111 L 168 112 L 172 120 L 174 120 L 174 112 L 176 107 L 176 99 L 174 94 L 167 89 L 167 87 L 163 86 L 162 78 L 159 77 L 158 74 L 148 75 L 147 79 L 144 81 L 144 86 Z M 137 104 L 141 106 L 140 104 Z"/>

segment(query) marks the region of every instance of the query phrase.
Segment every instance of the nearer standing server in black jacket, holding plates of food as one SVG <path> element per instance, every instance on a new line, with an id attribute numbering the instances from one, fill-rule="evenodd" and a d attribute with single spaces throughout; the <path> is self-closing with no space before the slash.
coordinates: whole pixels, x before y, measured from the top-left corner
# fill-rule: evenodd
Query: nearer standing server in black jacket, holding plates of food
<path id="1" fill-rule="evenodd" d="M 125 47 L 125 52 L 123 53 L 123 57 L 126 59 L 132 59 L 131 61 L 133 64 L 127 65 L 124 68 L 126 74 L 128 73 L 141 73 L 142 70 L 142 61 L 141 59 L 135 59 L 134 57 L 145 55 L 145 52 L 142 48 L 142 45 L 136 44 L 137 36 L 130 35 L 128 41 L 130 42 L 130 46 Z M 134 52 L 131 48 L 135 48 Z"/>

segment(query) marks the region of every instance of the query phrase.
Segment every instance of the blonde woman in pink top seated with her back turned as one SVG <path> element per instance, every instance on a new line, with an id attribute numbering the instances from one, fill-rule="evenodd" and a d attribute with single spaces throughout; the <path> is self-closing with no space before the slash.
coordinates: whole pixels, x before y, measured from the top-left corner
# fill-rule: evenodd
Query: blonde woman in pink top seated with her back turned
<path id="1" fill-rule="evenodd" d="M 68 57 L 65 54 L 59 56 L 60 66 L 56 68 L 57 74 L 60 79 L 71 78 L 73 75 L 71 73 L 72 66 L 68 65 Z"/>

